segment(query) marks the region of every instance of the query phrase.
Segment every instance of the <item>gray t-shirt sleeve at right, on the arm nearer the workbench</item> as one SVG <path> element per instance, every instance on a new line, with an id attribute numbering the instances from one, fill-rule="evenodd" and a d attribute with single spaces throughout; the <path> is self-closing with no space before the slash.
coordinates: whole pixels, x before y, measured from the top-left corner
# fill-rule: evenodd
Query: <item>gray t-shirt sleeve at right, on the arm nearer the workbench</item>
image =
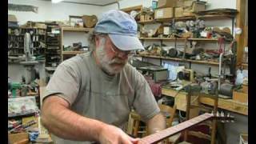
<path id="1" fill-rule="evenodd" d="M 137 70 L 134 70 L 134 73 L 134 109 L 140 114 L 142 121 L 147 122 L 158 114 L 160 109 L 146 79 Z"/>

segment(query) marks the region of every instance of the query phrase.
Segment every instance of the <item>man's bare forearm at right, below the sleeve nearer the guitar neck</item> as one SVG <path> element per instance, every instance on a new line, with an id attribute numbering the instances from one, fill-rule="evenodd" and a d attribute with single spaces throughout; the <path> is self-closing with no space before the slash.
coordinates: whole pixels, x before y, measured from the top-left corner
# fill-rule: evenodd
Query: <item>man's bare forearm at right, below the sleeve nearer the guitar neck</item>
<path id="1" fill-rule="evenodd" d="M 147 122 L 147 126 L 150 134 L 157 133 L 159 130 L 166 129 L 166 118 L 159 113 Z"/>

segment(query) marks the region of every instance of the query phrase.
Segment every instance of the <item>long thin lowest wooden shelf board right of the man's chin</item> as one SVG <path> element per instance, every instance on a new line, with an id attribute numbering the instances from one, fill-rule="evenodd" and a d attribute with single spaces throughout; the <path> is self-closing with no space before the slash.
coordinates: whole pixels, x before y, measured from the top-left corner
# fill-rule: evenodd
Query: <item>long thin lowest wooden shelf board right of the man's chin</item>
<path id="1" fill-rule="evenodd" d="M 199 60 L 192 60 L 192 59 L 170 58 L 170 57 L 142 55 L 142 54 L 139 54 L 137 56 L 142 57 L 142 58 L 159 58 L 159 59 L 173 60 L 173 61 L 178 61 L 178 62 L 192 62 L 192 63 L 198 63 L 198 64 L 209 64 L 209 65 L 218 66 L 218 62 L 213 62 L 213 61 L 203 61 L 203 60 L 199 61 Z"/>

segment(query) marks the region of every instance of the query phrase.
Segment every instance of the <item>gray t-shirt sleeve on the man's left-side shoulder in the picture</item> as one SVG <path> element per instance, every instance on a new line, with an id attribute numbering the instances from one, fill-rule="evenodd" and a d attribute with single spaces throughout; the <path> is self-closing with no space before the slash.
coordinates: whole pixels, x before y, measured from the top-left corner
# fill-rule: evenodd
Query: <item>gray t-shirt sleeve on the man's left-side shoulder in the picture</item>
<path id="1" fill-rule="evenodd" d="M 79 78 L 78 71 L 74 70 L 74 67 L 62 62 L 50 78 L 46 86 L 46 93 L 42 99 L 52 94 L 57 94 L 72 105 L 78 95 Z"/>

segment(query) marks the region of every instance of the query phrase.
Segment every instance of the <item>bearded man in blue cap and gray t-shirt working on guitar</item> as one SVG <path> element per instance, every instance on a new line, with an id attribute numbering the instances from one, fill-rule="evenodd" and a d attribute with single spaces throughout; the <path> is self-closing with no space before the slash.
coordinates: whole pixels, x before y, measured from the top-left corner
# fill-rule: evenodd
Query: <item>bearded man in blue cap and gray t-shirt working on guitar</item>
<path id="1" fill-rule="evenodd" d="M 150 86 L 127 64 L 132 50 L 144 49 L 134 18 L 120 10 L 103 14 L 90 36 L 90 48 L 91 52 L 62 62 L 46 87 L 42 123 L 54 140 L 136 143 L 138 138 L 122 130 L 133 107 L 151 134 L 165 129 Z"/>

